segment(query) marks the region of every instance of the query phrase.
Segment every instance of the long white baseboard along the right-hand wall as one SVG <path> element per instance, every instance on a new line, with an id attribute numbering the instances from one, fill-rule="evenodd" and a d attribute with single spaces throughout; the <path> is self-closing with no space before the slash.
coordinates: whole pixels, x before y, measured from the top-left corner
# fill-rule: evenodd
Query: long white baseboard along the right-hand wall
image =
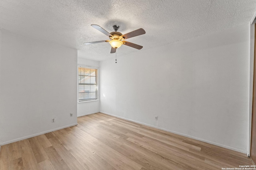
<path id="1" fill-rule="evenodd" d="M 135 123 L 139 123 L 139 124 L 142 124 L 142 125 L 146 125 L 146 126 L 149 126 L 149 127 L 154 127 L 154 128 L 156 128 L 156 129 L 160 129 L 160 130 L 163 130 L 163 131 L 166 131 L 166 132 L 174 133 L 174 134 L 176 134 L 176 135 L 180 135 L 180 136 L 188 137 L 188 138 L 195 139 L 195 140 L 198 140 L 198 141 L 202 141 L 202 142 L 205 142 L 205 143 L 209 143 L 209 144 L 212 144 L 212 145 L 216 145 L 216 146 L 218 146 L 218 147 L 222 147 L 222 148 L 234 150 L 234 151 L 241 152 L 241 153 L 244 153 L 244 154 L 247 153 L 247 152 L 244 151 L 244 150 L 236 149 L 236 148 L 233 148 L 233 147 L 228 147 L 228 146 L 226 146 L 226 145 L 222 145 L 222 144 L 219 144 L 219 143 L 214 143 L 214 142 L 212 142 L 212 141 L 207 141 L 207 140 L 204 140 L 204 139 L 200 139 L 200 138 L 193 137 L 193 136 L 190 136 L 190 135 L 186 135 L 186 134 L 183 134 L 183 133 L 178 133 L 178 132 L 171 131 L 171 130 L 168 130 L 168 129 L 164 129 L 164 128 L 161 128 L 161 127 L 149 125 L 149 124 L 142 123 L 142 122 L 139 122 L 139 121 L 135 121 L 135 120 L 132 120 L 132 119 L 127 119 L 127 118 L 125 118 L 125 117 L 120 117 L 120 116 L 117 116 L 117 115 L 112 115 L 112 114 L 106 113 L 106 112 L 104 112 L 104 111 L 100 111 L 100 113 L 104 113 L 104 114 L 107 114 L 107 115 L 111 115 L 111 116 L 114 116 L 114 117 L 118 117 L 118 118 L 121 118 L 121 119 L 125 119 L 125 120 L 128 120 L 128 121 L 132 121 L 132 122 L 135 122 Z"/>

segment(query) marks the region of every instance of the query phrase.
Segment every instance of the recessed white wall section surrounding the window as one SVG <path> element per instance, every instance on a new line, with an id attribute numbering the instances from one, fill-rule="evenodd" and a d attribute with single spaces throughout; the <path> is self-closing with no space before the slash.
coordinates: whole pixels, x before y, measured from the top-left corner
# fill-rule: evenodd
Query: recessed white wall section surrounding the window
<path id="1" fill-rule="evenodd" d="M 78 55 L 79 56 L 79 55 Z M 98 78 L 97 78 L 97 84 L 99 87 L 99 66 L 100 62 L 98 61 L 92 61 L 92 60 L 87 60 L 87 59 L 82 59 L 78 58 L 78 66 L 84 66 L 88 68 L 96 68 L 98 69 Z M 99 98 L 99 88 L 98 88 L 98 98 Z M 77 99 L 78 101 L 78 99 Z M 94 100 L 94 101 L 86 101 L 86 102 L 78 102 L 77 103 L 77 116 L 84 116 L 84 115 L 89 115 L 92 113 L 98 113 L 100 111 L 100 100 Z"/>

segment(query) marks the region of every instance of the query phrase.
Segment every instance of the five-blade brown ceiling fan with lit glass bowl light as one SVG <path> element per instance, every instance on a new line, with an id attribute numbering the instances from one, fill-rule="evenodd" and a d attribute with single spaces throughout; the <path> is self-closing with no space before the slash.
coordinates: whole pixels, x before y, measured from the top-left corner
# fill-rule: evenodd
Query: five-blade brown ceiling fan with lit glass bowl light
<path id="1" fill-rule="evenodd" d="M 105 29 L 103 29 L 102 27 L 100 27 L 99 25 L 91 25 L 92 27 L 94 27 L 95 29 L 97 29 L 98 31 L 104 33 L 105 35 L 107 35 L 109 37 L 110 40 L 103 40 L 103 41 L 94 41 L 94 42 L 89 42 L 89 43 L 84 43 L 86 45 L 88 44 L 94 44 L 94 43 L 104 43 L 104 42 L 109 42 L 111 45 L 111 51 L 110 53 L 116 53 L 116 49 L 121 47 L 121 45 L 127 45 L 130 47 L 133 47 L 135 49 L 142 49 L 142 46 L 134 44 L 134 43 L 130 43 L 128 41 L 124 41 L 125 39 L 131 38 L 131 37 L 136 37 L 138 35 L 142 35 L 145 34 L 145 30 L 140 28 L 140 29 L 136 29 L 130 33 L 126 33 L 124 35 L 122 35 L 122 33 L 117 32 L 119 29 L 118 25 L 114 25 L 114 32 L 108 33 L 108 31 L 106 31 Z"/>

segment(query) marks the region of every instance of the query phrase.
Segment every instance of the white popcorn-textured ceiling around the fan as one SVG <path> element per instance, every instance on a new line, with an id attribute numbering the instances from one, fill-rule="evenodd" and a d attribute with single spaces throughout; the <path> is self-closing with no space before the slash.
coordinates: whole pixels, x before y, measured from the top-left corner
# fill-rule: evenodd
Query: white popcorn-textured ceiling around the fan
<path id="1" fill-rule="evenodd" d="M 78 57 L 102 61 L 113 57 L 107 40 L 91 24 L 108 32 L 119 25 L 125 34 L 146 34 L 127 41 L 141 50 L 249 23 L 255 0 L 0 0 L 0 29 L 78 49 Z M 14 47 L 15 48 L 15 47 Z M 118 56 L 137 52 L 122 45 Z"/>

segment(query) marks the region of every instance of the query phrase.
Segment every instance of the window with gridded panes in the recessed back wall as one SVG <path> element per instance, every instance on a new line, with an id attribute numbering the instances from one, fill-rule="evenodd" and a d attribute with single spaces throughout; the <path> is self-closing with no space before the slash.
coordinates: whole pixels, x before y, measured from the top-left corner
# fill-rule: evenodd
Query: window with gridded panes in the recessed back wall
<path id="1" fill-rule="evenodd" d="M 97 70 L 78 67 L 78 102 L 97 99 Z"/>

